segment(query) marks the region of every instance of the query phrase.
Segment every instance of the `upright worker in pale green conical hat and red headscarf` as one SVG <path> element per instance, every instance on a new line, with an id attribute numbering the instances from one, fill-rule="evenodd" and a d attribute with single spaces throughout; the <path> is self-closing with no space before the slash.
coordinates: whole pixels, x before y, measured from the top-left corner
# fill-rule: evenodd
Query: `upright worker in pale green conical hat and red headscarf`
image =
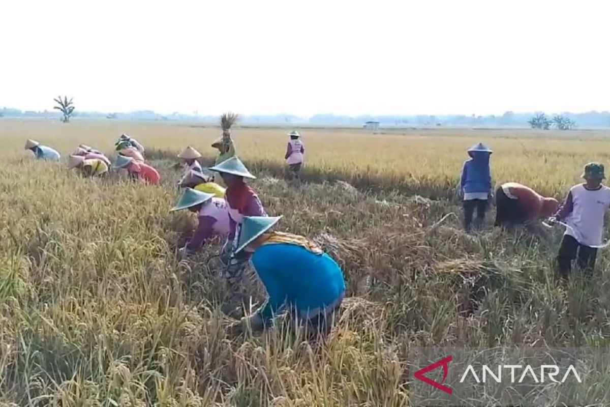
<path id="1" fill-rule="evenodd" d="M 229 210 L 229 236 L 224 243 L 221 259 L 227 264 L 227 277 L 229 284 L 235 285 L 242 279 L 243 271 L 248 265 L 249 254 L 245 251 L 234 253 L 235 237 L 239 236 L 239 228 L 245 216 L 267 216 L 256 192 L 248 186 L 245 178 L 256 179 L 238 157 L 231 157 L 218 165 L 209 168 L 210 171 L 220 173 L 224 184 L 227 185 L 224 199 Z M 237 287 L 235 287 L 237 289 Z"/>

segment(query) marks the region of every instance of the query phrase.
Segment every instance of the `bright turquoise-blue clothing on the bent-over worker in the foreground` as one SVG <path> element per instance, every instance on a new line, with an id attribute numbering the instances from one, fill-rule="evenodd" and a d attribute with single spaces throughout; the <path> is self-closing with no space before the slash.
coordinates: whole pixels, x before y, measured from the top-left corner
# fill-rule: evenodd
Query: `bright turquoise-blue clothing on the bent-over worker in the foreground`
<path id="1" fill-rule="evenodd" d="M 264 322 L 286 309 L 302 315 L 328 306 L 345 292 L 343 272 L 326 253 L 272 243 L 257 248 L 251 260 L 269 296 L 258 311 Z"/>

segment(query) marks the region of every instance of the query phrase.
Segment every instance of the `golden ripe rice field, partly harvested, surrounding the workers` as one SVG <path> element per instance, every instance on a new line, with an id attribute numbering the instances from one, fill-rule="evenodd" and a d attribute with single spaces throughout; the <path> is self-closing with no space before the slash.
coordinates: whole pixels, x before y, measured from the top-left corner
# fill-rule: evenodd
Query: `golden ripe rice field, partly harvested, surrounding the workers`
<path id="1" fill-rule="evenodd" d="M 190 144 L 210 160 L 220 129 L 0 120 L 0 405 L 406 406 L 411 346 L 610 345 L 605 252 L 592 280 L 562 286 L 558 234 L 469 236 L 451 199 L 475 142 L 494 149 L 495 182 L 562 197 L 583 164 L 609 164 L 609 134 L 302 129 L 295 188 L 282 174 L 289 130 L 234 139 L 267 212 L 284 215 L 279 229 L 316 239 L 344 269 L 349 298 L 326 344 L 281 324 L 231 337 L 210 260 L 221 243 L 176 259 L 194 219 L 168 213 L 172 157 Z M 110 153 L 121 132 L 149 149 L 162 185 L 66 170 L 76 145 Z M 64 162 L 34 160 L 27 138 Z M 264 290 L 250 288 L 254 306 Z"/>

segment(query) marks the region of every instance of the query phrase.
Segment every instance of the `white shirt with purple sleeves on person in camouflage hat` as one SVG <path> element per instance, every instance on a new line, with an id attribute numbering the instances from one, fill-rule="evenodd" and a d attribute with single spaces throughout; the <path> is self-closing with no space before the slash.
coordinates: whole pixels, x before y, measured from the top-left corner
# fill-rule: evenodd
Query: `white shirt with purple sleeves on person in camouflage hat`
<path id="1" fill-rule="evenodd" d="M 570 189 L 555 217 L 570 226 L 565 234 L 583 245 L 596 246 L 601 244 L 604 215 L 609 207 L 610 188 L 600 185 L 598 189 L 590 190 L 579 184 Z"/>

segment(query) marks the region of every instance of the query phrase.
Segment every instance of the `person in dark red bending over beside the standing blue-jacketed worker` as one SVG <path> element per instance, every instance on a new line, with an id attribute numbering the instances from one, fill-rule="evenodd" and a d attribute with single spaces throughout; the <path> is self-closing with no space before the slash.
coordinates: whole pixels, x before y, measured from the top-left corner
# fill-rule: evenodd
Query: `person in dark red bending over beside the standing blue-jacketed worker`
<path id="1" fill-rule="evenodd" d="M 553 216 L 559 209 L 555 198 L 544 198 L 517 182 L 506 182 L 496 190 L 495 226 L 529 225 Z"/>

